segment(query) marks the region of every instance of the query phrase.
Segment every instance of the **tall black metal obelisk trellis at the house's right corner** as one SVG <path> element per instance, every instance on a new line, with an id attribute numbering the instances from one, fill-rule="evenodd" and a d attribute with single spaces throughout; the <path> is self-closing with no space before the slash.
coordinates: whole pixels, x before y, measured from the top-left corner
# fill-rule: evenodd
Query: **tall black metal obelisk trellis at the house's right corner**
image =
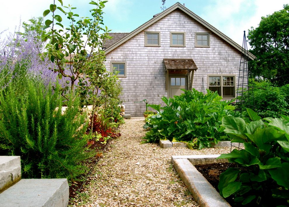
<path id="1" fill-rule="evenodd" d="M 240 116 L 242 117 L 243 116 L 242 112 L 245 108 L 251 108 L 255 110 L 253 80 L 250 81 L 249 75 L 250 75 L 249 74 L 249 54 L 248 54 L 246 34 L 244 31 L 239 77 L 238 77 L 235 116 L 237 116 L 237 112 L 239 112 Z M 234 145 L 232 145 L 231 143 L 231 151 L 232 151 L 232 146 Z M 238 146 L 234 146 L 234 147 L 240 150 L 240 143 Z"/>

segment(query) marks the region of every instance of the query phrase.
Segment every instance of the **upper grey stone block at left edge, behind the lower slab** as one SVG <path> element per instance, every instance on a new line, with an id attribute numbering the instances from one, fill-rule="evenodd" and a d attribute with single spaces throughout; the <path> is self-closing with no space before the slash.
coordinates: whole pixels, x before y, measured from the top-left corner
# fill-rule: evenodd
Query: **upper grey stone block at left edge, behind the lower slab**
<path id="1" fill-rule="evenodd" d="M 20 179 L 20 156 L 0 156 L 0 193 Z"/>

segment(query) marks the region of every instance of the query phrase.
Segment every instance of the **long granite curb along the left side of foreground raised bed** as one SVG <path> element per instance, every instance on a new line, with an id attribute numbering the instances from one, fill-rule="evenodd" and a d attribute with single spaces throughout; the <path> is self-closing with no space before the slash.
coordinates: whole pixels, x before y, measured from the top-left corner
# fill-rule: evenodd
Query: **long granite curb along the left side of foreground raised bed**
<path id="1" fill-rule="evenodd" d="M 194 200 L 201 207 L 230 206 L 189 160 L 175 159 L 173 164 Z"/>

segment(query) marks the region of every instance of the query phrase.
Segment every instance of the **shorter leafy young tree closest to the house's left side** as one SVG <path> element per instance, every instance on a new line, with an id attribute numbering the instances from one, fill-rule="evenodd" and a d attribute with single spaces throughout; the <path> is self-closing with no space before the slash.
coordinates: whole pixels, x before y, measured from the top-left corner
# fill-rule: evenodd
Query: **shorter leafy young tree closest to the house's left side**
<path id="1" fill-rule="evenodd" d="M 121 104 L 119 96 L 122 92 L 122 87 L 118 77 L 113 73 L 106 71 L 104 61 L 104 51 L 99 50 L 98 55 L 91 57 L 92 61 L 86 69 L 87 78 L 79 81 L 78 91 L 83 100 L 82 104 L 93 105 L 94 111 L 102 106 L 102 115 L 104 117 L 113 117 L 115 121 L 121 119 L 120 109 Z M 91 129 L 93 129 L 93 120 L 91 121 Z"/>

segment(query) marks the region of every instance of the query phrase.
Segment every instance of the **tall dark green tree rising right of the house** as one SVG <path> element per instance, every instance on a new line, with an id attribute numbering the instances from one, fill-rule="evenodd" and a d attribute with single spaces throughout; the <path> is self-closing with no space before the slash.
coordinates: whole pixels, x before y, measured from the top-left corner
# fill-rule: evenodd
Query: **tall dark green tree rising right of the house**
<path id="1" fill-rule="evenodd" d="M 262 17 L 257 28 L 251 28 L 248 40 L 257 59 L 252 75 L 262 76 L 279 86 L 289 84 L 289 5 Z"/>

